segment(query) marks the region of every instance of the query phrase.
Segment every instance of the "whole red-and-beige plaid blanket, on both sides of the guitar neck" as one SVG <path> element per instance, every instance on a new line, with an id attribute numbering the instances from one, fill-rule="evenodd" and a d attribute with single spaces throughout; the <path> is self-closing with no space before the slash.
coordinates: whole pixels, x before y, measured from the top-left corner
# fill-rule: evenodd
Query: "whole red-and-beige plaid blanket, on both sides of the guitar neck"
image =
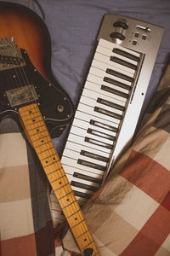
<path id="1" fill-rule="evenodd" d="M 14 119 L 0 133 L 0 255 L 59 256 L 42 166 Z M 170 66 L 132 147 L 83 207 L 101 255 L 170 255 L 169 148 Z M 63 244 L 78 253 L 70 230 Z"/>

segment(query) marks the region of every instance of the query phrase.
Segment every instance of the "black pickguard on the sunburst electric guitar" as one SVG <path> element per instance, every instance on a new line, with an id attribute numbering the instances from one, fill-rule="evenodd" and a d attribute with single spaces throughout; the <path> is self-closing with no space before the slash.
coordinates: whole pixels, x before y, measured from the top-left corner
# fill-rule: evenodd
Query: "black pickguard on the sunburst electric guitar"
<path id="1" fill-rule="evenodd" d="M 8 101 L 7 96 L 8 90 L 22 88 L 31 84 L 36 91 L 36 102 L 48 126 L 48 130 L 50 132 L 53 129 L 55 132 L 51 136 L 57 137 L 60 131 L 65 128 L 65 125 L 73 118 L 74 107 L 71 99 L 57 82 L 50 84 L 37 72 L 24 49 L 21 49 L 21 53 L 26 61 L 26 66 L 0 71 L 0 119 L 9 113 L 18 115 L 18 108 L 33 103 L 32 99 L 30 102 L 24 102 L 23 96 L 16 93 L 16 101 L 24 103 L 11 106 L 13 104 Z"/>

